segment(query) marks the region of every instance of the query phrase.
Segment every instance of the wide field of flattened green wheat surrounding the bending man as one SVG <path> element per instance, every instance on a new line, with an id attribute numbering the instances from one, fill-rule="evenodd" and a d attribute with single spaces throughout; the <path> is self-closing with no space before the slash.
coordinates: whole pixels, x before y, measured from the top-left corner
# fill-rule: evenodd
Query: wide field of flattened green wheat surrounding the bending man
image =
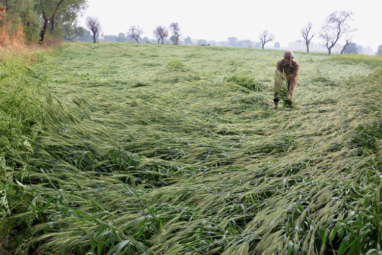
<path id="1" fill-rule="evenodd" d="M 372 254 L 382 59 L 71 43 L 0 66 L 2 252 Z"/>

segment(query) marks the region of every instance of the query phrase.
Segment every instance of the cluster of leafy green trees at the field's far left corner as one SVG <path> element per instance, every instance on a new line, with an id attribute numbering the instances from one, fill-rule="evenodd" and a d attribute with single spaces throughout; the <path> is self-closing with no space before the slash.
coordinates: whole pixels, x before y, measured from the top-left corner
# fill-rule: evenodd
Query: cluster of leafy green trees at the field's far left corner
<path id="1" fill-rule="evenodd" d="M 76 18 L 88 5 L 87 0 L 1 0 L 2 23 L 10 33 L 22 29 L 26 42 L 44 41 L 46 34 L 57 37 L 81 33 Z M 66 35 L 65 35 L 66 34 Z"/>

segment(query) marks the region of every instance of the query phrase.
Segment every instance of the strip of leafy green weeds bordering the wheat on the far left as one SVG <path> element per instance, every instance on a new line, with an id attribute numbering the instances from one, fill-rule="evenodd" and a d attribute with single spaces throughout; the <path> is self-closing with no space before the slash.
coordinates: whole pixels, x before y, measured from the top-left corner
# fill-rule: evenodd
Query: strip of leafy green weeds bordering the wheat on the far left
<path id="1" fill-rule="evenodd" d="M 23 191 L 14 186 L 13 177 L 31 184 L 28 162 L 35 141 L 44 132 L 38 91 L 49 80 L 41 70 L 29 66 L 30 59 L 37 62 L 49 53 L 24 54 L 2 52 L 0 67 L 0 244 L 8 250 L 19 249 L 17 254 L 27 254 L 25 247 L 18 248 L 23 241 L 20 236 L 28 232 L 37 214 L 29 204 L 20 204 Z M 22 216 L 9 217 L 15 214 Z"/>

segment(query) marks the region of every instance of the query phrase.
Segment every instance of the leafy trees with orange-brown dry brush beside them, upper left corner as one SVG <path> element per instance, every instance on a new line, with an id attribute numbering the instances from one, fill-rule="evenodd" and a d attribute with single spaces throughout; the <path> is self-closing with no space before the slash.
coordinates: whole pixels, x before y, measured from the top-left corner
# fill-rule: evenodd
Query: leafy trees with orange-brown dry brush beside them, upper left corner
<path id="1" fill-rule="evenodd" d="M 77 18 L 87 7 L 87 0 L 0 0 L 0 45 L 57 44 L 84 35 Z"/>

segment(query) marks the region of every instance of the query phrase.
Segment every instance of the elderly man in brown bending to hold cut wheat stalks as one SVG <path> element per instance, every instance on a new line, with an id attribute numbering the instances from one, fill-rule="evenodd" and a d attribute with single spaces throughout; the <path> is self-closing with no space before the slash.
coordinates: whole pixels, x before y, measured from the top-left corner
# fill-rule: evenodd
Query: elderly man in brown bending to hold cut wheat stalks
<path id="1" fill-rule="evenodd" d="M 299 65 L 297 61 L 293 60 L 293 58 L 294 57 L 293 57 L 292 50 L 287 50 L 286 52 L 284 52 L 284 59 L 279 60 L 276 65 L 276 78 L 277 78 L 277 73 L 281 72 L 281 73 L 285 73 L 285 76 L 288 81 L 288 99 L 285 100 L 287 103 L 290 103 L 291 101 L 291 97 L 293 95 L 293 90 L 294 90 L 294 87 L 296 86 L 297 76 L 298 76 Z M 281 84 L 276 84 L 276 81 L 277 81 L 276 78 L 275 78 L 275 90 L 278 86 L 281 85 Z M 275 102 L 275 110 L 278 110 L 280 97 L 277 91 L 275 91 L 275 96 L 273 100 Z"/>

